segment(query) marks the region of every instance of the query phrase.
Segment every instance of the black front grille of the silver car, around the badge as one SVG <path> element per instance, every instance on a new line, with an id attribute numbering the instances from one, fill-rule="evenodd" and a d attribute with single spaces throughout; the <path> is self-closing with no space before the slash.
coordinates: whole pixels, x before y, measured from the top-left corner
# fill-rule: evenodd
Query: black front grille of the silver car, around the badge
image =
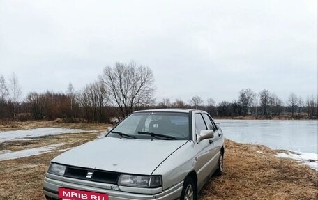
<path id="1" fill-rule="evenodd" d="M 88 172 L 93 172 L 93 176 L 91 176 L 91 178 L 86 178 Z M 64 176 L 68 178 L 90 180 L 100 183 L 116 184 L 119 178 L 119 173 L 112 171 L 101 171 L 96 169 L 66 167 Z"/>

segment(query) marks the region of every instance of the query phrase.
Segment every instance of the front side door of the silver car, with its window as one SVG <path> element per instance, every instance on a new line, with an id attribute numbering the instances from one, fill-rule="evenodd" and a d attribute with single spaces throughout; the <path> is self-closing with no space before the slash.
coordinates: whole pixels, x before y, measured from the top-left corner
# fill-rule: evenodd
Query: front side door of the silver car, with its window
<path id="1" fill-rule="evenodd" d="M 201 130 L 207 130 L 206 122 L 202 113 L 195 113 L 195 133 L 199 135 Z M 195 157 L 195 168 L 197 171 L 198 188 L 201 188 L 205 180 L 209 178 L 211 172 L 211 156 L 213 151 L 213 142 L 211 139 L 204 139 L 195 143 L 197 156 Z"/>

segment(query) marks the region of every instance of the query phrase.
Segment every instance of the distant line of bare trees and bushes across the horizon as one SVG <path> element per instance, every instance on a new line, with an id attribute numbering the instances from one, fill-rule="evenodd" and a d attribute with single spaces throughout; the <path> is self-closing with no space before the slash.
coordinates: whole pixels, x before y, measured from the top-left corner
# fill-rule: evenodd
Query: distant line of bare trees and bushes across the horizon
<path id="1" fill-rule="evenodd" d="M 305 100 L 294 93 L 283 102 L 278 95 L 264 89 L 255 93 L 242 89 L 237 100 L 215 104 L 213 98 L 202 100 L 195 95 L 191 100 L 180 99 L 162 102 L 154 100 L 153 72 L 134 62 L 116 63 L 106 67 L 96 82 L 75 91 L 68 85 L 65 93 L 31 92 L 23 100 L 21 86 L 13 74 L 8 84 L 0 76 L 0 119 L 6 121 L 54 120 L 66 122 L 109 123 L 123 118 L 132 111 L 153 108 L 203 109 L 213 117 L 253 116 L 255 118 L 317 118 L 317 95 Z"/>

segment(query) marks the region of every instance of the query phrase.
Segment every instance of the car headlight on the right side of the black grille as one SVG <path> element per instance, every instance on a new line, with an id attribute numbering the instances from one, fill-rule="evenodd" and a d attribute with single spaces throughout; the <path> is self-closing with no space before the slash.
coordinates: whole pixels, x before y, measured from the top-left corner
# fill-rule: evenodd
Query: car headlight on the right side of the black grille
<path id="1" fill-rule="evenodd" d="M 121 174 L 118 185 L 128 187 L 160 187 L 162 186 L 161 176 L 135 176 L 129 174 Z"/>

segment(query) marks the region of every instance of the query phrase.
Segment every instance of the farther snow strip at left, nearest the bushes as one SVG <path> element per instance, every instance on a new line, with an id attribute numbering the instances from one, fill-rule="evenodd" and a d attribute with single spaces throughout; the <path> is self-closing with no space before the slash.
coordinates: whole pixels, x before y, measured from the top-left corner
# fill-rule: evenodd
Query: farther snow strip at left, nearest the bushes
<path id="1" fill-rule="evenodd" d="M 0 132 L 0 143 L 4 141 L 13 141 L 33 137 L 43 137 L 47 135 L 58 135 L 65 133 L 83 133 L 83 132 L 93 132 L 99 133 L 98 130 L 82 130 L 82 129 L 72 129 L 72 128 L 36 128 L 33 130 L 11 130 Z"/>

